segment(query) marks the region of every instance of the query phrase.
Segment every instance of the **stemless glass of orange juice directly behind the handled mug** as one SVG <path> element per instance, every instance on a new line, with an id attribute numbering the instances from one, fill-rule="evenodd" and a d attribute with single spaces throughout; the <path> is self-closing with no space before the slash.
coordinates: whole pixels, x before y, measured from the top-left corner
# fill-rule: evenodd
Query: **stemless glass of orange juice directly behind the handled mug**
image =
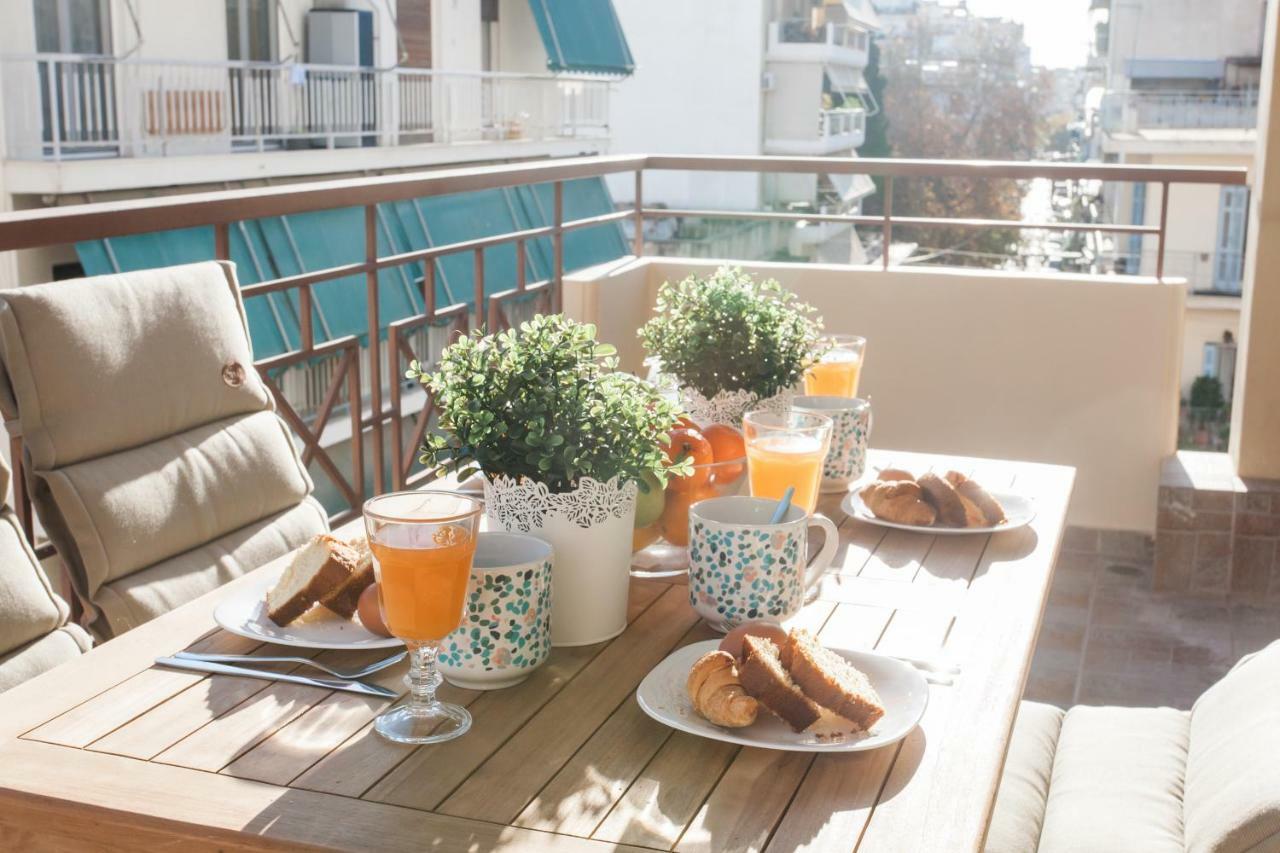
<path id="1" fill-rule="evenodd" d="M 742 416 L 746 475 L 755 497 L 791 498 L 805 512 L 818 506 L 822 461 L 831 446 L 831 418 L 803 411 L 749 411 Z"/>

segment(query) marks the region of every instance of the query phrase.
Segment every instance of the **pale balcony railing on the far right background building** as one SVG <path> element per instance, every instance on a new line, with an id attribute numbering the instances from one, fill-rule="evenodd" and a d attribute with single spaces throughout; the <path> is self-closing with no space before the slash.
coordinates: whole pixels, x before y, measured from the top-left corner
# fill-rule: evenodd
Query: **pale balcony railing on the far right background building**
<path id="1" fill-rule="evenodd" d="M 1212 92 L 1107 92 L 1102 99 L 1105 131 L 1148 128 L 1252 128 L 1258 120 L 1253 88 Z"/>

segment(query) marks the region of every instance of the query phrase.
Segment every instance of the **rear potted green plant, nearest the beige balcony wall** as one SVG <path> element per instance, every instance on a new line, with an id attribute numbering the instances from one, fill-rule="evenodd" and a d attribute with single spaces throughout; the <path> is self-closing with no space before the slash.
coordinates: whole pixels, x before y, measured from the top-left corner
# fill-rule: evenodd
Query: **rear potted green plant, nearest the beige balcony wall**
<path id="1" fill-rule="evenodd" d="M 820 332 L 813 306 L 776 280 L 722 266 L 663 283 L 639 334 L 695 421 L 739 424 L 751 409 L 787 406 Z"/>

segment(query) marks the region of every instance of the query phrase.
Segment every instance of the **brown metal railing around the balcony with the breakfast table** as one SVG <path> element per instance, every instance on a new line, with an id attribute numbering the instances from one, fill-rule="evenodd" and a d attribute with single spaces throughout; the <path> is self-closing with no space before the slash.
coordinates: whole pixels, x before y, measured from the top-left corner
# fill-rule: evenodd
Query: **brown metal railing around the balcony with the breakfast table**
<path id="1" fill-rule="evenodd" d="M 883 178 L 884 210 L 882 215 L 841 214 L 841 213 L 782 213 L 748 210 L 680 210 L 667 207 L 648 207 L 644 201 L 644 177 L 648 170 L 676 172 L 746 172 L 772 174 L 847 174 L 876 175 Z M 581 219 L 567 219 L 564 187 L 582 178 L 600 178 L 608 174 L 632 174 L 635 179 L 635 201 L 625 210 Z M 364 214 L 364 257 L 352 263 L 339 264 L 326 269 L 262 280 L 242 287 L 246 302 L 257 298 L 270 298 L 273 293 L 288 295 L 297 300 L 301 320 L 300 343 L 288 352 L 259 359 L 256 366 L 273 388 L 282 416 L 298 433 L 301 441 L 311 450 L 315 460 L 339 484 L 346 507 L 337 512 L 338 519 L 353 517 L 360 512 L 365 496 L 366 465 L 372 467 L 372 489 L 376 493 L 388 487 L 399 488 L 428 476 L 426 471 L 413 473 L 415 448 L 419 447 L 429 419 L 431 403 L 410 418 L 410 434 L 406 435 L 403 423 L 406 416 L 401 409 L 402 377 L 407 360 L 425 356 L 412 351 L 412 341 L 419 329 L 447 327 L 465 330 L 481 324 L 490 329 L 503 329 L 511 325 L 509 309 L 538 302 L 545 309 L 558 310 L 561 305 L 561 283 L 564 274 L 564 238 L 571 232 L 595 228 L 608 223 L 631 220 L 634 254 L 644 255 L 645 219 L 664 219 L 671 216 L 703 216 L 722 220 L 762 220 L 796 223 L 831 222 L 849 223 L 878 229 L 883 246 L 892 243 L 893 228 L 910 225 L 914 228 L 965 228 L 965 229 L 1039 229 L 1053 232 L 1102 232 L 1120 234 L 1152 236 L 1156 241 L 1156 278 L 1165 274 L 1165 237 L 1169 213 L 1169 188 L 1171 184 L 1197 183 L 1220 186 L 1243 186 L 1247 170 L 1243 168 L 1206 167 L 1157 167 L 1126 164 L 1085 164 L 1085 163 L 1012 163 L 1012 161 L 963 161 L 963 160 L 877 160 L 877 159 L 836 159 L 836 158 L 769 158 L 769 156 L 713 156 L 713 155 L 618 155 L 571 158 L 539 163 L 520 163 L 511 165 L 489 165 L 460 169 L 442 169 L 407 174 L 367 177 L 358 179 L 324 181 L 291 186 L 255 187 L 210 193 L 138 199 L 131 201 L 101 202 L 61 207 L 45 207 L 0 214 L 0 251 L 60 246 L 77 241 L 113 238 L 128 234 L 212 227 L 212 256 L 227 259 L 232 251 L 233 228 L 246 220 L 282 218 L 308 211 L 356 207 Z M 892 210 L 893 183 L 920 178 L 963 178 L 1015 179 L 1029 181 L 1047 178 L 1053 181 L 1116 181 L 1143 182 L 1161 186 L 1161 209 L 1156 225 L 1120 225 L 1108 223 L 1061 223 L 1061 222 L 1019 222 L 997 219 L 957 219 L 947 216 L 900 216 Z M 552 205 L 549 224 L 499 232 L 492 236 L 466 240 L 462 242 L 430 246 L 407 252 L 384 252 L 379 247 L 379 206 L 401 202 L 408 199 L 431 196 L 452 196 L 457 193 L 479 192 L 503 187 L 550 186 Z M 1176 196 L 1176 193 L 1174 193 Z M 516 257 L 525 257 L 531 245 L 538 241 L 550 241 L 552 263 L 549 277 L 541 280 L 527 280 L 526 264 L 513 266 L 513 280 L 500 292 L 485 291 L 485 265 L 492 263 L 490 250 L 509 250 L 515 247 Z M 475 266 L 475 292 L 462 301 L 444 305 L 435 287 L 435 261 L 445 256 L 470 257 Z M 381 270 L 399 269 L 406 265 L 422 266 L 421 313 L 403 316 L 388 325 L 380 321 L 380 278 Z M 879 269 L 890 268 L 890 254 L 883 252 Z M 868 274 L 876 274 L 874 268 Z M 312 288 L 323 282 L 351 279 L 357 291 L 364 291 L 367 328 L 362 334 L 326 337 L 314 321 L 315 293 Z M 957 286 L 961 282 L 957 280 Z M 385 330 L 385 334 L 384 334 Z M 419 336 L 420 337 L 420 336 Z M 364 346 L 361 338 L 369 342 Z M 385 339 L 385 343 L 383 343 Z M 342 400 L 346 386 L 346 400 L 353 434 L 367 434 L 370 453 L 364 453 L 364 442 L 349 442 L 351 476 L 344 476 L 329 456 L 329 448 L 321 447 L 319 435 L 325 421 L 334 411 L 326 406 L 311 421 L 301 418 L 282 394 L 273 374 L 291 365 L 312 361 L 320 357 L 340 360 L 333 371 L 333 384 L 325 396 L 334 401 Z M 367 396 L 361 392 L 361 370 L 358 360 L 367 360 Z M 378 378 L 383 378 L 379 380 Z M 387 389 L 387 393 L 384 393 Z M 367 405 L 366 402 L 367 401 Z M 384 435 L 384 429 L 389 437 Z M 15 469 L 20 466 L 20 447 L 13 448 L 12 459 Z M 388 478 L 389 471 L 389 478 Z M 389 482 L 388 482 L 389 480 Z M 31 530 L 29 505 L 23 493 L 23 476 L 15 471 L 18 505 L 28 534 Z"/>

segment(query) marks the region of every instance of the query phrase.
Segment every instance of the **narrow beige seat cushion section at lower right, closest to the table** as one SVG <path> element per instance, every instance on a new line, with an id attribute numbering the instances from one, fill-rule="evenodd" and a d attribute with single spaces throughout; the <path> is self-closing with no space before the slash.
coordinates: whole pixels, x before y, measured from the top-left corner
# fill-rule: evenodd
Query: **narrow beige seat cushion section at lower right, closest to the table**
<path id="1" fill-rule="evenodd" d="M 1018 707 L 996 811 L 987 830 L 987 853 L 1024 853 L 1039 844 L 1064 715 L 1062 708 L 1038 702 Z"/>

